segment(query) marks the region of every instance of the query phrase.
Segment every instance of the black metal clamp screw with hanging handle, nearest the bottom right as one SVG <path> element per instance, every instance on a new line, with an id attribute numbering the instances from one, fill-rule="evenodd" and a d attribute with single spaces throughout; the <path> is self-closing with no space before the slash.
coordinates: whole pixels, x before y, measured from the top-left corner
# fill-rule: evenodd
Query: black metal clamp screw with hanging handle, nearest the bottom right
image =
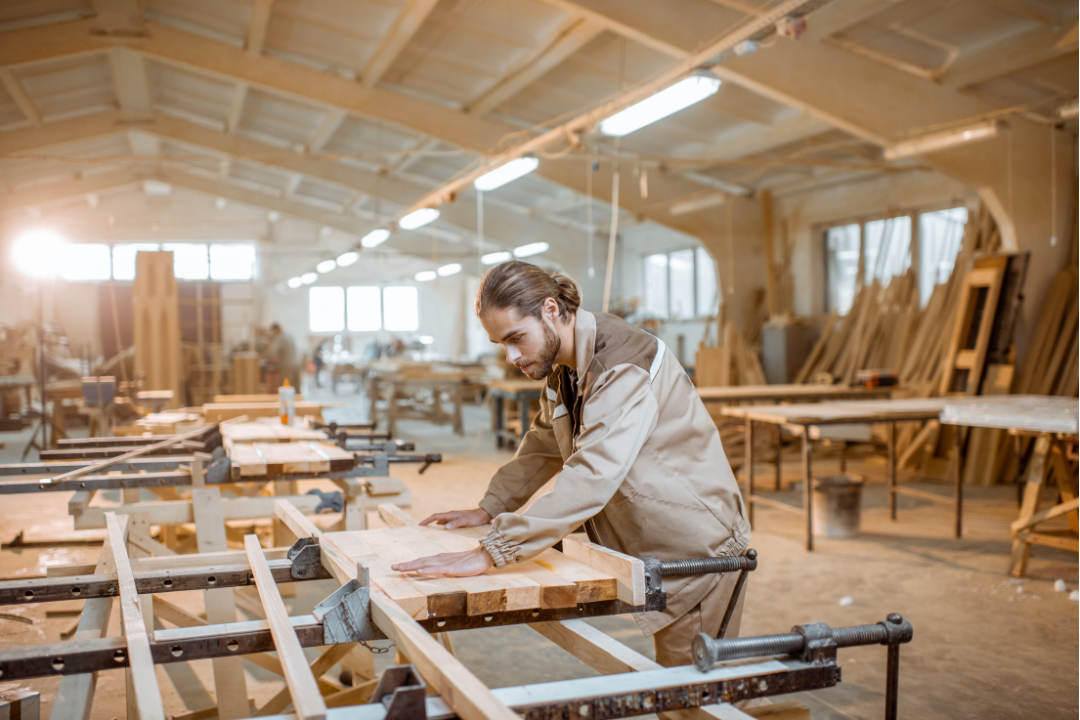
<path id="1" fill-rule="evenodd" d="M 829 627 L 825 623 L 796 625 L 791 633 L 751 638 L 711 638 L 699 633 L 693 639 L 693 664 L 707 673 L 717 663 L 769 655 L 794 655 L 810 665 L 835 665 L 839 648 L 882 644 L 889 648 L 886 675 L 886 720 L 895 720 L 900 695 L 900 646 L 915 636 L 912 624 L 897 613 L 874 625 Z"/>

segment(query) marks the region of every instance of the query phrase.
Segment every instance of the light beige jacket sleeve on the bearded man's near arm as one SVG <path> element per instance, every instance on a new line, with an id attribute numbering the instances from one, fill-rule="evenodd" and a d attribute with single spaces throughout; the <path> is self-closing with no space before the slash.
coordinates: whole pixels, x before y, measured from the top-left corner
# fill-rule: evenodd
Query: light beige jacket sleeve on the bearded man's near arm
<path id="1" fill-rule="evenodd" d="M 618 365 L 596 381 L 582 410 L 578 447 L 552 488 L 525 513 L 495 518 L 481 541 L 497 566 L 528 560 L 608 504 L 657 425 L 649 373 Z"/>

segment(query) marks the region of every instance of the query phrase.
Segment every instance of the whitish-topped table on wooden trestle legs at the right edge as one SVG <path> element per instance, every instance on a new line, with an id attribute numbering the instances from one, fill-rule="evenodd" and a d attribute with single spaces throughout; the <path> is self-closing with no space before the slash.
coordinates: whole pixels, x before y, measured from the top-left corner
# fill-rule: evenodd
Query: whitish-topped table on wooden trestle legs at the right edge
<path id="1" fill-rule="evenodd" d="M 1005 430 L 1016 436 L 1035 439 L 1031 459 L 1027 463 L 1024 478 L 1024 500 L 1020 517 L 1012 524 L 1012 557 L 1009 572 L 1021 576 L 1027 571 L 1027 560 L 1031 545 L 1047 545 L 1080 552 L 1080 497 L 1076 483 L 1076 472 L 1069 468 L 1067 444 L 1078 440 L 1078 410 L 1075 397 L 1049 397 L 1044 395 L 1003 395 L 973 398 L 963 403 L 946 403 L 942 409 L 941 422 L 956 425 L 954 450 L 962 448 L 966 427 L 990 427 Z M 1020 454 L 1020 453 L 1017 453 Z M 957 458 L 962 458 L 957 452 Z M 954 463 L 955 481 L 963 475 L 962 462 Z M 1059 502 L 1039 511 L 1039 495 L 1051 474 L 1057 481 Z M 1039 532 L 1036 527 L 1047 520 L 1067 516 L 1068 535 L 1059 532 Z"/>

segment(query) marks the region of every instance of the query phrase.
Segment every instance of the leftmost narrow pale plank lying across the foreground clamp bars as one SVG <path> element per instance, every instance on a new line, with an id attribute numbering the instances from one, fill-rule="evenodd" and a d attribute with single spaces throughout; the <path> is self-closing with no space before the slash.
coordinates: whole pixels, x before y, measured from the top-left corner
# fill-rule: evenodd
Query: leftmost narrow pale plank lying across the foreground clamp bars
<path id="1" fill-rule="evenodd" d="M 158 687 L 158 675 L 150 655 L 150 641 L 143 621 L 140 598 L 135 589 L 135 576 L 132 574 L 131 562 L 124 549 L 124 531 L 120 520 L 112 513 L 105 516 L 107 542 L 112 549 L 116 563 L 117 584 L 120 595 L 120 623 L 123 627 L 124 640 L 127 644 L 127 660 L 131 667 L 132 683 L 130 690 L 134 697 L 129 696 L 129 717 L 134 709 L 139 720 L 165 720 L 165 709 L 161 704 L 161 690 Z"/>

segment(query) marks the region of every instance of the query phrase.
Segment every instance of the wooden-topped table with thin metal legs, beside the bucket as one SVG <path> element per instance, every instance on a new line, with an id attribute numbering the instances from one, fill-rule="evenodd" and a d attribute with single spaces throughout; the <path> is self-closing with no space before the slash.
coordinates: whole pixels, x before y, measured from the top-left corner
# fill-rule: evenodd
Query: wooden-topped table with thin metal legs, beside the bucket
<path id="1" fill-rule="evenodd" d="M 836 425 L 846 423 L 888 424 L 888 465 L 887 478 L 889 486 L 889 517 L 896 519 L 896 495 L 905 494 L 933 502 L 954 504 L 956 515 L 956 536 L 960 536 L 960 516 L 963 497 L 959 484 L 956 484 L 954 498 L 943 498 L 932 492 L 914 488 L 902 488 L 896 485 L 896 423 L 910 421 L 936 420 L 945 406 L 944 398 L 912 398 L 897 400 L 860 400 L 815 403 L 801 405 L 748 405 L 743 407 L 724 408 L 724 415 L 742 418 L 746 432 L 746 512 L 754 526 L 754 505 L 766 505 L 778 510 L 802 513 L 806 527 L 806 548 L 813 549 L 813 473 L 812 473 L 812 437 L 811 427 L 816 425 Z M 802 437 L 802 507 L 795 507 L 770 498 L 754 494 L 754 423 L 767 423 L 779 426 L 795 426 Z M 778 458 L 779 461 L 779 458 Z"/>

